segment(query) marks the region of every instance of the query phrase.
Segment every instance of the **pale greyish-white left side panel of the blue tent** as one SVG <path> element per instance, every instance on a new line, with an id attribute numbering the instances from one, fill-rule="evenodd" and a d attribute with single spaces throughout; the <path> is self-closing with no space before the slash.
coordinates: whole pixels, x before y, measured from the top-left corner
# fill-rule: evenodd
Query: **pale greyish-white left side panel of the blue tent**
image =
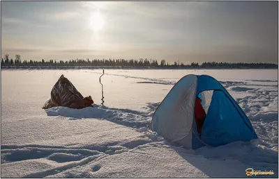
<path id="1" fill-rule="evenodd" d="M 170 142 L 191 146 L 196 92 L 197 76 L 181 78 L 153 114 L 152 130 Z"/>

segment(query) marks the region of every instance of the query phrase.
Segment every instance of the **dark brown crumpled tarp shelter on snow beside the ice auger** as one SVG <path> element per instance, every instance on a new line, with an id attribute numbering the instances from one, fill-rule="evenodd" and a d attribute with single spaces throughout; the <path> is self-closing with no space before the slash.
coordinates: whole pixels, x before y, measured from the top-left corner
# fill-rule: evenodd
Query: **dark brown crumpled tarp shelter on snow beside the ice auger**
<path id="1" fill-rule="evenodd" d="M 70 80 L 63 75 L 55 83 L 52 91 L 50 92 L 50 99 L 47 100 L 43 109 L 49 109 L 56 106 L 63 106 L 73 109 L 82 109 L 86 107 L 93 107 L 94 103 L 91 96 L 83 97 L 80 92 L 77 91 L 75 86 L 70 83 Z"/>

